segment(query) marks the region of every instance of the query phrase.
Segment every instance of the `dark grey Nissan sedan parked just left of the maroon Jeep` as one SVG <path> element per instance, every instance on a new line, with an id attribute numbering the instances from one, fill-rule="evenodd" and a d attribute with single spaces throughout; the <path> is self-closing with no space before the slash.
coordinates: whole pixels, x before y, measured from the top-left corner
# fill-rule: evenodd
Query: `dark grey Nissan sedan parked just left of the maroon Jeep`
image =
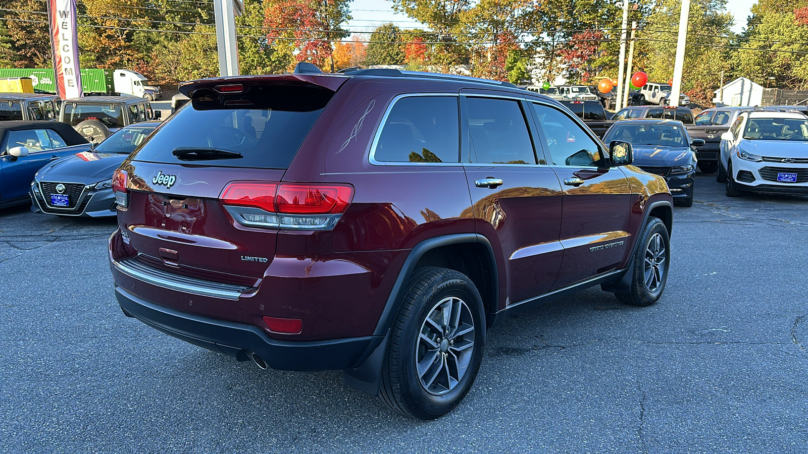
<path id="1" fill-rule="evenodd" d="M 99 145 L 73 148 L 66 158 L 44 166 L 31 183 L 31 211 L 60 216 L 115 216 L 112 173 L 159 124 L 152 121 L 121 128 Z"/>

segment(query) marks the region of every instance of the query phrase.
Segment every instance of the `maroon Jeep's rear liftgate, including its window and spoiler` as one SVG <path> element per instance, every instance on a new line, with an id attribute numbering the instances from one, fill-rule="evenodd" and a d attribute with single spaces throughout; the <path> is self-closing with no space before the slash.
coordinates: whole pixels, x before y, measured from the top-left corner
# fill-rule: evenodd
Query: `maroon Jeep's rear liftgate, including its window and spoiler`
<path id="1" fill-rule="evenodd" d="M 213 79 L 183 91 L 191 102 L 118 170 L 127 180 L 116 195 L 127 205 L 118 219 L 128 252 L 165 271 L 255 285 L 275 255 L 278 229 L 234 221 L 220 197 L 234 181 L 280 182 L 334 90 L 280 76 Z"/>

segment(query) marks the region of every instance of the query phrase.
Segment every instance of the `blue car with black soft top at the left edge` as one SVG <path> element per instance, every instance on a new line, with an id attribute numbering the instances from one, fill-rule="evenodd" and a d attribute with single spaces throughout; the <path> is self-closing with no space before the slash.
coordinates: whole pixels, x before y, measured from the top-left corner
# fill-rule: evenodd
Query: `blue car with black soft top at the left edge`
<path id="1" fill-rule="evenodd" d="M 48 162 L 76 153 L 82 145 L 90 146 L 66 123 L 0 122 L 0 208 L 31 203 L 28 188 L 36 171 Z"/>

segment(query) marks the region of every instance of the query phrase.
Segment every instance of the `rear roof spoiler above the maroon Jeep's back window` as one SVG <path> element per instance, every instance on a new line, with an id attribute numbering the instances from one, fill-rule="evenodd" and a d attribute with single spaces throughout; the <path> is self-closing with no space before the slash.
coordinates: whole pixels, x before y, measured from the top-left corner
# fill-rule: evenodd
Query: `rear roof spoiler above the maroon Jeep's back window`
<path id="1" fill-rule="evenodd" d="M 327 90 L 336 91 L 350 77 L 343 74 L 278 74 L 266 76 L 230 76 L 225 78 L 207 78 L 195 81 L 182 82 L 179 84 L 179 91 L 188 98 L 193 98 L 194 93 L 202 90 L 214 90 L 215 86 L 236 86 L 244 87 L 253 85 L 263 85 L 276 83 L 278 85 L 289 86 L 319 86 Z M 208 91 L 203 90 L 203 91 Z"/>

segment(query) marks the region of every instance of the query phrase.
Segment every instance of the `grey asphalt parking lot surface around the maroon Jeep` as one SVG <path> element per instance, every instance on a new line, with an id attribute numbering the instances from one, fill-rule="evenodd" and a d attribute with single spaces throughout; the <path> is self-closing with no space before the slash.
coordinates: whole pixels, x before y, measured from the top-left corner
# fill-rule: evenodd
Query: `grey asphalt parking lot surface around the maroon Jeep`
<path id="1" fill-rule="evenodd" d="M 114 221 L 0 210 L 0 452 L 808 452 L 808 197 L 698 174 L 649 308 L 599 288 L 491 331 L 432 422 L 124 317 Z"/>

